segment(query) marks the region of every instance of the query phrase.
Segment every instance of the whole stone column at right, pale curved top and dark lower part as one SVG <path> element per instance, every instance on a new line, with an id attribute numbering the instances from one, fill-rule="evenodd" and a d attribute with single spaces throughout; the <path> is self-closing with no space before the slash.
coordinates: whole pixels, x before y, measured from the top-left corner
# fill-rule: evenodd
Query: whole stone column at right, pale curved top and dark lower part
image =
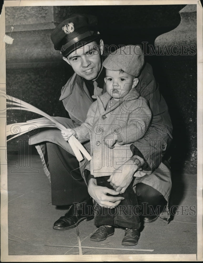
<path id="1" fill-rule="evenodd" d="M 197 166 L 197 57 L 196 5 L 179 11 L 178 27 L 155 39 L 162 93 L 174 126 L 173 167 L 196 173 Z"/>

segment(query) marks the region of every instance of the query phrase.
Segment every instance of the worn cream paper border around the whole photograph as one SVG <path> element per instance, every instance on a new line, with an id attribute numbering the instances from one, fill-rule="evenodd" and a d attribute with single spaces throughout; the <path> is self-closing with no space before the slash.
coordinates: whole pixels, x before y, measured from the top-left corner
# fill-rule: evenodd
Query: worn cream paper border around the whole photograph
<path id="1" fill-rule="evenodd" d="M 5 7 L 8 6 L 80 6 L 80 5 L 167 5 L 196 4 L 197 5 L 197 254 L 136 254 L 136 255 L 8 255 L 8 188 L 6 160 L 6 93 L 0 97 L 0 159 L 1 159 L 1 262 L 63 262 L 63 261 L 202 261 L 203 257 L 203 226 L 202 226 L 202 187 L 203 187 L 203 41 L 202 14 L 200 1 L 195 0 L 50 0 L 50 1 L 4 1 L 0 17 L 1 25 L 1 73 L 0 87 L 6 89 L 6 52 L 3 36 L 5 35 Z M 108 260 L 107 260 L 108 257 Z"/>

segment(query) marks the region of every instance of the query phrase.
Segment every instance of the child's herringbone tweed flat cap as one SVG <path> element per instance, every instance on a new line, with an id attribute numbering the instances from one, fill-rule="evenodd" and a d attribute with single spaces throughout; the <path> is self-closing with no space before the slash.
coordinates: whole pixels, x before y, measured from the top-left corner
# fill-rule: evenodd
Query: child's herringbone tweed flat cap
<path id="1" fill-rule="evenodd" d="M 138 45 L 127 45 L 108 55 L 102 65 L 109 70 L 122 69 L 124 72 L 137 77 L 144 65 L 144 55 Z"/>

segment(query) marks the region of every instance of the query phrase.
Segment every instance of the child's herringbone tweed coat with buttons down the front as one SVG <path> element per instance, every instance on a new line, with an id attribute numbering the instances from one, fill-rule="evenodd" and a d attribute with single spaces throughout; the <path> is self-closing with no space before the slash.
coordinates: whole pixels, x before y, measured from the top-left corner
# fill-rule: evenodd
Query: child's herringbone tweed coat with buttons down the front
<path id="1" fill-rule="evenodd" d="M 135 89 L 119 101 L 110 103 L 110 99 L 108 93 L 97 97 L 89 108 L 85 123 L 75 128 L 80 142 L 90 140 L 90 170 L 95 177 L 111 175 L 132 157 L 130 145 L 144 136 L 152 117 L 146 100 Z M 103 139 L 112 133 L 117 134 L 118 140 L 110 149 Z"/>

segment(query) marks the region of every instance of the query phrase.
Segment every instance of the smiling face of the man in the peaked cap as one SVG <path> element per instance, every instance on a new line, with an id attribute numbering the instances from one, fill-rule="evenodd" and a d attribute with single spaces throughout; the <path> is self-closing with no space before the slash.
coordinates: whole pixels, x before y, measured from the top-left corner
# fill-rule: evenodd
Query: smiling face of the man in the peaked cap
<path id="1" fill-rule="evenodd" d="M 67 62 L 77 75 L 87 80 L 97 78 L 102 67 L 100 45 L 93 41 L 67 56 Z"/>

